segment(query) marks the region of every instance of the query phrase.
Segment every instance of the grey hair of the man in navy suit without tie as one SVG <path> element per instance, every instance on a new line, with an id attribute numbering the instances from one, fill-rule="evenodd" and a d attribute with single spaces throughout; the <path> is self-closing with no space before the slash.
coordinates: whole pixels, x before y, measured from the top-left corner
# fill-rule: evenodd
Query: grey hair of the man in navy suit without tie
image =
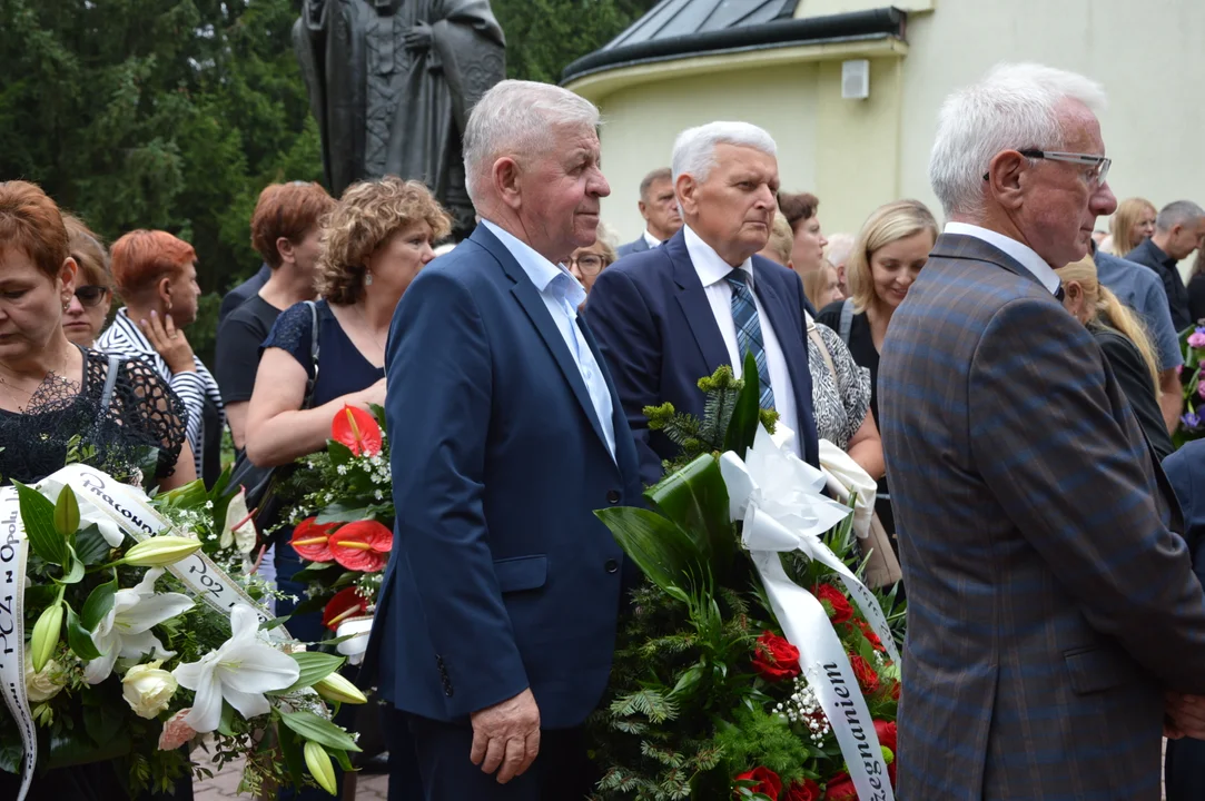
<path id="1" fill-rule="evenodd" d="M 502 155 L 531 155 L 552 147 L 556 128 L 600 125 L 599 110 L 569 89 L 535 81 L 502 81 L 493 86 L 464 126 L 464 183 L 469 199 L 480 200 L 480 179 Z"/>

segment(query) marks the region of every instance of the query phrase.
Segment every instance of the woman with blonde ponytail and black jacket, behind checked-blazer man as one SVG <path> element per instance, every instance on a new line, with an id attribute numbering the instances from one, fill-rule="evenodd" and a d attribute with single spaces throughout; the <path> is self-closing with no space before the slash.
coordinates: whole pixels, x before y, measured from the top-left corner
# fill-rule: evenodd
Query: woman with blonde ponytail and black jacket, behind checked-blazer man
<path id="1" fill-rule="evenodd" d="M 1142 322 L 1100 283 L 1091 255 L 1056 272 L 1063 282 L 1063 306 L 1097 340 L 1162 463 L 1175 446 L 1159 410 L 1159 359 Z"/>

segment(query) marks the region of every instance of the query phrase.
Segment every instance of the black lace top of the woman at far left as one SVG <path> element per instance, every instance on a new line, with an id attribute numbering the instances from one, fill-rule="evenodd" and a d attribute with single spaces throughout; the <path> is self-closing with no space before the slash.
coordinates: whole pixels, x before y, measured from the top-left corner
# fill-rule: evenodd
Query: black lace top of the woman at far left
<path id="1" fill-rule="evenodd" d="M 153 367 L 134 359 L 118 363 L 104 405 L 108 357 L 83 354 L 82 387 L 51 373 L 23 412 L 0 410 L 0 484 L 40 481 L 63 467 L 69 453 L 71 461 L 118 477 L 142 470 L 148 483 L 174 472 L 186 435 L 180 399 Z"/>

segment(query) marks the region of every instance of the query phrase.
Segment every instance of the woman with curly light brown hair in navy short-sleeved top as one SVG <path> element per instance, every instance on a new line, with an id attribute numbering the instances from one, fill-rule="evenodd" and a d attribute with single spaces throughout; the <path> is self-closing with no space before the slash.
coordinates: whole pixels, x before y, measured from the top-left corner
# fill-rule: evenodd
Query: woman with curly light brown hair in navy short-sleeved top
<path id="1" fill-rule="evenodd" d="M 435 258 L 431 246 L 449 228 L 448 216 L 417 181 L 387 177 L 343 193 L 323 226 L 317 279 L 322 299 L 312 310 L 301 302 L 282 312 L 264 342 L 247 411 L 247 457 L 254 464 L 286 465 L 322 450 L 335 412 L 345 405 L 366 410 L 384 404 L 384 342 L 393 311 L 418 271 Z M 304 597 L 305 585 L 292 581 L 300 559 L 283 544 L 289 535 L 282 531 L 276 540 L 277 582 L 281 590 Z M 292 613 L 294 605 L 289 599 L 277 601 L 277 614 Z M 321 641 L 322 614 L 294 616 L 289 631 L 302 641 Z M 408 760 L 412 765 L 405 772 L 413 779 L 412 787 L 390 788 L 390 797 L 419 799 L 413 747 L 406 732 L 389 734 L 400 737 L 390 742 L 390 761 Z M 305 791 L 299 796 L 308 797 Z"/>

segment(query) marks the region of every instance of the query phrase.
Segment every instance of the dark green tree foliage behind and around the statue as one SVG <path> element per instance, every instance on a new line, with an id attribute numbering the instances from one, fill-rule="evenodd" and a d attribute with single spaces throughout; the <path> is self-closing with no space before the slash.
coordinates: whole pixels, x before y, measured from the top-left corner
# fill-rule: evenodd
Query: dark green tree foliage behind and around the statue
<path id="1" fill-rule="evenodd" d="M 556 82 L 654 0 L 494 0 L 512 77 Z M 299 0 L 0 0 L 0 181 L 42 185 L 112 241 L 196 248 L 206 354 L 217 293 L 258 267 L 248 222 L 274 181 L 321 181 L 290 31 Z M 204 355 L 202 355 L 204 358 Z"/>

